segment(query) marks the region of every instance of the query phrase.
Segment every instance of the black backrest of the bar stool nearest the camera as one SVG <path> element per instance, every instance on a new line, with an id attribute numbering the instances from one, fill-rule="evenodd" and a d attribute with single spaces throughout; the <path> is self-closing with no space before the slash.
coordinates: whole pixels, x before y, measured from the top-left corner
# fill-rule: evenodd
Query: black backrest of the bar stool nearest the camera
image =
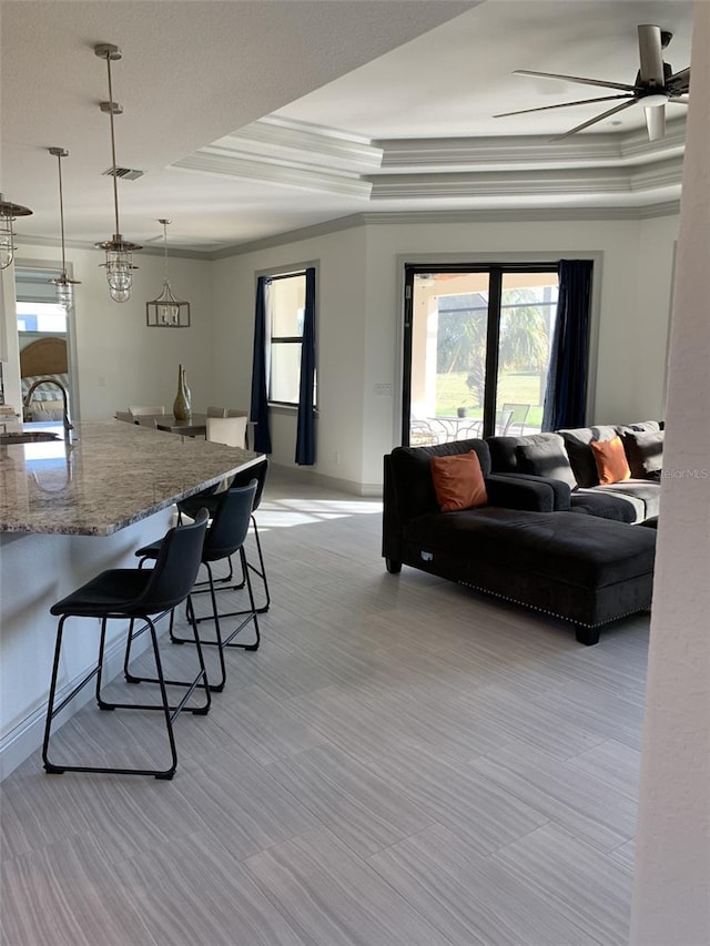
<path id="1" fill-rule="evenodd" d="M 126 613 L 156 614 L 176 608 L 185 600 L 202 563 L 209 518 L 207 510 L 201 509 L 194 522 L 175 526 L 166 532 L 150 581 Z"/>

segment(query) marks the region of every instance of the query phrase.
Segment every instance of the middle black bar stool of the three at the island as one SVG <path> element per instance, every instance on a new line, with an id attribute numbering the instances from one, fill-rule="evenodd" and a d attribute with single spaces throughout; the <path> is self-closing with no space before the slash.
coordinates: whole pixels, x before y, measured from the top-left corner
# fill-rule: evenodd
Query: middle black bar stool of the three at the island
<path id="1" fill-rule="evenodd" d="M 261 641 L 258 630 L 258 612 L 254 603 L 254 592 L 252 589 L 252 579 L 250 569 L 246 564 L 246 553 L 244 551 L 244 540 L 248 532 L 248 525 L 252 515 L 254 496 L 256 495 L 256 480 L 252 479 L 248 486 L 232 487 L 226 492 L 220 492 L 214 498 L 219 499 L 214 515 L 207 528 L 202 548 L 202 563 L 207 570 L 209 591 L 212 598 L 212 617 L 201 618 L 201 621 L 214 621 L 215 640 L 202 641 L 203 645 L 214 645 L 220 651 L 220 671 L 221 680 L 219 683 L 210 683 L 210 689 L 214 692 L 220 692 L 224 689 L 226 680 L 226 667 L 224 663 L 224 649 L 227 647 L 241 648 L 242 650 L 257 650 Z M 209 498 L 209 497 L 207 497 Z M 162 540 L 151 542 L 148 546 L 139 549 L 135 555 L 140 557 L 142 566 L 148 559 L 156 558 L 160 555 Z M 212 574 L 212 563 L 229 559 L 231 556 L 239 552 L 240 562 L 244 573 L 246 592 L 248 594 L 250 607 L 244 611 L 234 611 L 229 614 L 220 614 L 217 610 L 216 588 Z M 226 588 L 220 589 L 226 591 Z M 231 618 L 234 616 L 242 617 L 237 625 L 230 631 L 226 637 L 222 635 L 220 619 Z M 255 640 L 253 643 L 243 644 L 234 641 L 234 638 L 248 624 L 254 624 Z M 178 638 L 172 633 L 171 639 L 175 643 L 192 643 L 189 638 Z M 130 639 L 129 639 L 130 644 Z"/>

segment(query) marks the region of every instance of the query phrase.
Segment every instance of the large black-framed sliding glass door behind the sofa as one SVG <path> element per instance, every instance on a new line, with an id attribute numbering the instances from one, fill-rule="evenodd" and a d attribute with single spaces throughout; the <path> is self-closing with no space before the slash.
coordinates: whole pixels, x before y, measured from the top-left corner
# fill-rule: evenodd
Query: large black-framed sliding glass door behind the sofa
<path id="1" fill-rule="evenodd" d="M 539 431 L 557 266 L 407 265 L 403 444 Z"/>

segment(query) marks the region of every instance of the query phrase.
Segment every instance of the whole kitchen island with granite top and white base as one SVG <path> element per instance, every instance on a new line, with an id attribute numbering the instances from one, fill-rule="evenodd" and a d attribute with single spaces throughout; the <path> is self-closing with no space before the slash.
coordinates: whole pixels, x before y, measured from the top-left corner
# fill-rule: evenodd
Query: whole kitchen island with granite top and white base
<path id="1" fill-rule="evenodd" d="M 262 459 L 119 420 L 78 425 L 73 443 L 61 424 L 26 425 L 38 428 L 59 439 L 0 445 L 0 777 L 41 745 L 50 607 L 106 568 L 134 567 L 134 550 L 165 532 L 175 501 Z M 98 621 L 85 623 L 91 631 L 67 648 L 62 690 L 93 665 Z"/>

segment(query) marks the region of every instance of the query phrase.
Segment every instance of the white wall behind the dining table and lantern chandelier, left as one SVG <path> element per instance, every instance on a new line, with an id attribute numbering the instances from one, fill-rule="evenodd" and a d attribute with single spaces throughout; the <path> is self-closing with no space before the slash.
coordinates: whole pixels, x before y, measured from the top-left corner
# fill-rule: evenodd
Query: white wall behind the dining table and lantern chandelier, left
<path id="1" fill-rule="evenodd" d="M 178 298 L 191 304 L 190 328 L 148 328 L 145 303 L 155 298 L 163 285 L 162 256 L 135 254 L 133 292 L 125 303 L 109 296 L 103 253 L 69 248 L 74 287 L 74 334 L 79 367 L 79 404 L 74 411 L 82 420 L 112 417 L 129 404 L 164 404 L 169 409 L 178 391 L 178 365 L 187 373 L 193 403 L 205 407 L 213 394 L 211 266 L 205 261 L 170 260 L 169 274 Z M 57 247 L 22 245 L 16 262 L 61 261 Z M 17 362 L 4 366 L 19 372 Z M 7 384 L 6 384 L 7 388 Z M 77 395 L 74 394 L 74 398 Z M 9 399 L 9 398 L 8 398 Z M 79 411 L 77 411 L 79 407 Z"/>

